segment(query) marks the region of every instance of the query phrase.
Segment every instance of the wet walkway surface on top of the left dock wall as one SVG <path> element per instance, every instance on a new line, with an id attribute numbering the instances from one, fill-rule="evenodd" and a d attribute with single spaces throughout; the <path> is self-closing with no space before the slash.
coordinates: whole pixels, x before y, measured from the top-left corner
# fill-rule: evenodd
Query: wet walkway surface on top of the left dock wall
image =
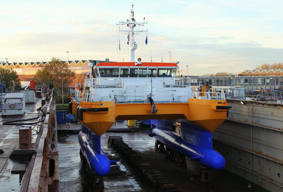
<path id="1" fill-rule="evenodd" d="M 13 166 L 17 164 L 24 164 L 27 166 L 30 159 L 26 157 L 11 157 L 11 153 L 19 144 L 19 128 L 21 125 L 3 125 L 3 122 L 13 121 L 16 119 L 30 119 L 37 117 L 37 109 L 41 107 L 41 100 L 35 104 L 26 104 L 26 113 L 24 116 L 6 116 L 2 117 L 0 112 L 0 149 L 4 153 L 0 154 L 0 191 L 18 191 L 20 182 L 23 178 L 22 173 L 11 173 Z M 28 120 L 24 122 L 37 122 L 39 119 Z M 32 125 L 32 142 L 37 138 L 38 124 Z"/>

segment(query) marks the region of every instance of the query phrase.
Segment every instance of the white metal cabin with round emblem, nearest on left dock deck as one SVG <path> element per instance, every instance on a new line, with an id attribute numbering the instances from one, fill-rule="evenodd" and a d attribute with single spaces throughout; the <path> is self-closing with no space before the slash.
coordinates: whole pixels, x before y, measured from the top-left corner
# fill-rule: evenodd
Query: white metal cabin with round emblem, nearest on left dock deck
<path id="1" fill-rule="evenodd" d="M 23 116 L 25 113 L 24 93 L 7 93 L 4 98 L 2 116 Z"/>

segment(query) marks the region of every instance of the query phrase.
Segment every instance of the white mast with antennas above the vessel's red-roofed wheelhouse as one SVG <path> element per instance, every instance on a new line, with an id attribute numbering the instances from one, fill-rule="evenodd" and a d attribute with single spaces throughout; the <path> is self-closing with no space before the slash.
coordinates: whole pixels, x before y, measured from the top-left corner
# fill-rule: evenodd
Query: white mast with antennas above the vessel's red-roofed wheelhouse
<path id="1" fill-rule="evenodd" d="M 135 50 L 138 48 L 138 44 L 135 43 L 135 36 L 139 33 L 146 32 L 146 31 L 135 31 L 134 28 L 136 26 L 144 26 L 145 24 L 148 24 L 145 22 L 145 17 L 143 22 L 137 22 L 134 18 L 134 11 L 133 11 L 134 4 L 132 4 L 132 9 L 130 10 L 130 19 L 127 19 L 127 21 L 119 21 L 119 24 L 117 25 L 126 25 L 129 27 L 129 30 L 120 30 L 119 31 L 122 34 L 128 35 L 128 42 L 127 44 L 130 45 L 130 62 L 135 62 Z"/>

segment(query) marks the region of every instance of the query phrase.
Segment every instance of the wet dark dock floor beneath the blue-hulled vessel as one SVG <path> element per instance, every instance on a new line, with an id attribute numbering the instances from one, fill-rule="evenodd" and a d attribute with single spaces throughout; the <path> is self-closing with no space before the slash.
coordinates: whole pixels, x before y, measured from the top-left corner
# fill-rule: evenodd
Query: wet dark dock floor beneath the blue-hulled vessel
<path id="1" fill-rule="evenodd" d="M 104 188 L 93 188 L 79 156 L 77 134 L 58 143 L 61 191 L 155 191 L 139 178 L 124 159 L 107 147 L 108 136 L 120 135 L 124 142 L 145 158 L 179 190 L 184 192 L 268 192 L 262 187 L 225 169 L 211 171 L 211 181 L 198 182 L 199 164 L 186 160 L 187 168 L 177 167 L 164 154 L 154 151 L 155 139 L 137 132 L 106 132 L 101 136 L 101 148 L 110 160 L 117 160 L 104 176 Z M 248 187 L 248 185 L 251 187 Z"/>

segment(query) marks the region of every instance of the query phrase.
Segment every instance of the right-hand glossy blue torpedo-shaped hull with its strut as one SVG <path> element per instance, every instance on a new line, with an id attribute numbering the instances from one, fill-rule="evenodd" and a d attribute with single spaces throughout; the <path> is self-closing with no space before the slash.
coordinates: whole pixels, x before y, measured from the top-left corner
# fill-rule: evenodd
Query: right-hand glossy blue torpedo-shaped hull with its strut
<path id="1" fill-rule="evenodd" d="M 205 167 L 216 170 L 225 167 L 224 157 L 212 149 L 212 133 L 192 125 L 185 127 L 185 123 L 182 123 L 182 135 L 184 136 L 182 137 L 172 132 L 171 125 L 170 120 L 157 120 L 157 128 L 152 130 L 154 137 L 171 150 L 187 156 Z"/>

